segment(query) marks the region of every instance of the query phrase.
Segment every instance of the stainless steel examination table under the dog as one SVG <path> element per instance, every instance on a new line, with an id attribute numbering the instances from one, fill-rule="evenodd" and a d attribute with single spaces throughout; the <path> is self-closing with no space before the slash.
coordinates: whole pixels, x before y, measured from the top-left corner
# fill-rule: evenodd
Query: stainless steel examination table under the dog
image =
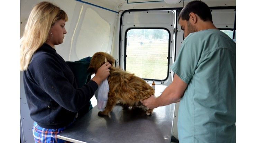
<path id="1" fill-rule="evenodd" d="M 159 96 L 166 86 L 156 86 Z M 95 106 L 74 125 L 58 135 L 75 143 L 170 143 L 175 104 L 154 109 L 146 115 L 141 109 L 116 105 L 109 116 L 98 116 Z"/>

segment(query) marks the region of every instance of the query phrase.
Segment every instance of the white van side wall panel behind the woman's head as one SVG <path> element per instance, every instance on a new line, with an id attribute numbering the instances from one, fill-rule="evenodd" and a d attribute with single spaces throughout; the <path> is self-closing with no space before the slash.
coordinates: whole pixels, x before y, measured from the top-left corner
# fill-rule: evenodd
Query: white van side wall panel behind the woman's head
<path id="1" fill-rule="evenodd" d="M 68 15 L 65 25 L 67 34 L 65 34 L 64 42 L 56 45 L 56 51 L 65 61 L 91 57 L 99 51 L 110 53 L 117 12 L 75 0 L 50 1 L 56 3 Z M 28 14 L 38 2 L 39 0 L 21 0 L 21 36 Z"/>

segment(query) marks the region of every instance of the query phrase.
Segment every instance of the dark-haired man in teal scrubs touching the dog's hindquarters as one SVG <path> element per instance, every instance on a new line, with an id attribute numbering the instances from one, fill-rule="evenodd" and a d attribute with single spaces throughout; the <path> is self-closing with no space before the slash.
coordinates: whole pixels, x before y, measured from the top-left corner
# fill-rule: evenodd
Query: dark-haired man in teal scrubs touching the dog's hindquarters
<path id="1" fill-rule="evenodd" d="M 185 39 L 171 66 L 173 82 L 141 102 L 150 109 L 180 102 L 180 143 L 234 143 L 236 43 L 214 26 L 202 1 L 189 2 L 178 21 Z"/>

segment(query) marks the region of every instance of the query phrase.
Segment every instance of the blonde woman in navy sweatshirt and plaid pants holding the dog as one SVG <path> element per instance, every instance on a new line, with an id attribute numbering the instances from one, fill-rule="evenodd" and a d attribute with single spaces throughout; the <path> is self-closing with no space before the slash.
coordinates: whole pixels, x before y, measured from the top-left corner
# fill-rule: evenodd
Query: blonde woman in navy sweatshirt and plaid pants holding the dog
<path id="1" fill-rule="evenodd" d="M 35 142 L 67 142 L 57 134 L 75 121 L 77 112 L 87 104 L 98 85 L 109 76 L 111 64 L 103 64 L 95 76 L 81 88 L 55 45 L 67 33 L 67 14 L 50 2 L 40 2 L 31 11 L 20 43 L 20 70 L 24 71 L 24 88 L 35 121 Z"/>

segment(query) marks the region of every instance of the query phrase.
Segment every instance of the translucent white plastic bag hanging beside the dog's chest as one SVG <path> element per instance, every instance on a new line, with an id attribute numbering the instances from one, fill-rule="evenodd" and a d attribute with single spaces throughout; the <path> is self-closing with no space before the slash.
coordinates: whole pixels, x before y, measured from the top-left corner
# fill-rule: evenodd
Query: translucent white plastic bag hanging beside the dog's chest
<path id="1" fill-rule="evenodd" d="M 108 78 L 102 81 L 98 88 L 98 95 L 97 95 L 97 106 L 100 111 L 104 111 L 107 101 L 108 101 L 108 92 L 109 92 L 109 85 L 108 85 Z M 96 93 L 95 93 L 96 95 Z"/>

